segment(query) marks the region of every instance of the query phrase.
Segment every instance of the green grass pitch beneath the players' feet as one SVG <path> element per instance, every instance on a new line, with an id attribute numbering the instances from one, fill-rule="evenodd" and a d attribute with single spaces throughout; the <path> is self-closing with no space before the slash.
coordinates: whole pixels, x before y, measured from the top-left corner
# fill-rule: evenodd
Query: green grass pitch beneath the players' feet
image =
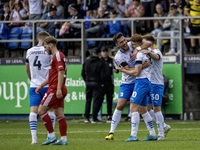
<path id="1" fill-rule="evenodd" d="M 123 120 L 123 119 L 122 119 Z M 39 120 L 38 144 L 31 145 L 31 134 L 27 121 L 0 120 L 0 150 L 199 150 L 200 121 L 166 121 L 172 129 L 165 141 L 125 142 L 130 136 L 130 123 L 121 121 L 114 140 L 106 141 L 105 136 L 110 130 L 109 123 L 84 124 L 83 119 L 67 120 L 67 146 L 42 146 L 46 140 L 46 129 Z M 154 124 L 155 127 L 155 124 Z M 155 127 L 157 132 L 157 127 Z M 60 139 L 58 124 L 56 135 Z M 148 131 L 143 121 L 140 122 L 138 138 L 147 137 Z"/>

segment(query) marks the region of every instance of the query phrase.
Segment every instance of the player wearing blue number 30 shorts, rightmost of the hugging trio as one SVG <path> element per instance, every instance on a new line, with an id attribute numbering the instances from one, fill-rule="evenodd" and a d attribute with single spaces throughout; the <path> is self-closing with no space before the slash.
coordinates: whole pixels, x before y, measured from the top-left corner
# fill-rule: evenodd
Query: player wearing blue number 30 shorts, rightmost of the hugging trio
<path id="1" fill-rule="evenodd" d="M 158 140 L 165 140 L 165 136 L 171 127 L 164 123 L 163 114 L 161 112 L 162 97 L 164 93 L 164 79 L 162 75 L 163 56 L 159 49 L 153 48 L 155 39 L 152 35 L 143 36 L 143 41 L 150 41 L 152 43 L 152 46 L 148 50 L 141 51 L 151 57 L 151 91 L 148 101 L 148 111 L 153 121 L 157 124 Z M 151 109 L 152 105 L 153 110 Z"/>

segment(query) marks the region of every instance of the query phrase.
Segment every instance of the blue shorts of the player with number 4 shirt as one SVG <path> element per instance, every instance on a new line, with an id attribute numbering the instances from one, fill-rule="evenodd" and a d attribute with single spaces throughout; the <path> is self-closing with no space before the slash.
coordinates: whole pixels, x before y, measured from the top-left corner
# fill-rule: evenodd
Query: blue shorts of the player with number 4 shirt
<path id="1" fill-rule="evenodd" d="M 40 105 L 42 98 L 44 97 L 44 94 L 48 90 L 48 87 L 42 88 L 42 90 L 40 91 L 39 94 L 35 93 L 35 89 L 36 88 L 33 88 L 33 87 L 29 88 L 29 104 L 30 104 L 30 107 Z"/>

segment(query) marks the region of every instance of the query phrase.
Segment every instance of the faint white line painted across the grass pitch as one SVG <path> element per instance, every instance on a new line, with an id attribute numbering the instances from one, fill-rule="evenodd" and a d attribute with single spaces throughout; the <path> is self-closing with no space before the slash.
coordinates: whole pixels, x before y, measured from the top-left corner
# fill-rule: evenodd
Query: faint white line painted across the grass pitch
<path id="1" fill-rule="evenodd" d="M 200 130 L 200 128 L 182 128 L 182 129 L 178 129 L 178 128 L 172 128 L 172 131 L 191 131 L 191 130 L 195 130 L 198 131 Z M 148 130 L 139 130 L 139 131 L 148 131 Z M 100 133 L 100 132 L 108 132 L 107 131 L 68 131 L 68 134 L 76 134 L 76 133 Z M 130 130 L 116 130 L 116 132 L 130 132 Z M 22 134 L 30 134 L 30 132 L 26 132 L 26 133 L 0 133 L 0 135 L 22 135 Z M 47 134 L 47 132 L 38 132 L 37 134 Z"/>

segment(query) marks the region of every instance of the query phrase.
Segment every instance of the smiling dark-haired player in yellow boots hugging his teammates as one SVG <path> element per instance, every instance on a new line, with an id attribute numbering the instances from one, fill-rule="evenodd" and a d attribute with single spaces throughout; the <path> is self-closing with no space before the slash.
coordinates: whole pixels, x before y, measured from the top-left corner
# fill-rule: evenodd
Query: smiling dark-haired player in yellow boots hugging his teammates
<path id="1" fill-rule="evenodd" d="M 126 69 L 135 67 L 135 59 L 133 57 L 133 49 L 131 47 L 131 43 L 128 42 L 124 38 L 122 33 L 117 33 L 113 36 L 113 41 L 117 47 L 119 47 L 119 51 L 117 52 L 114 60 L 115 67 L 123 66 Z M 150 44 L 147 42 L 142 45 L 142 47 L 147 48 Z M 145 68 L 145 65 L 143 66 Z M 114 132 L 121 120 L 121 114 L 124 107 L 127 104 L 127 101 L 130 100 L 133 89 L 135 85 L 135 76 L 128 75 L 126 73 L 122 73 L 122 84 L 120 86 L 119 94 L 118 94 L 118 102 L 117 107 L 112 116 L 111 128 L 108 136 L 105 137 L 106 140 L 114 139 Z"/>

